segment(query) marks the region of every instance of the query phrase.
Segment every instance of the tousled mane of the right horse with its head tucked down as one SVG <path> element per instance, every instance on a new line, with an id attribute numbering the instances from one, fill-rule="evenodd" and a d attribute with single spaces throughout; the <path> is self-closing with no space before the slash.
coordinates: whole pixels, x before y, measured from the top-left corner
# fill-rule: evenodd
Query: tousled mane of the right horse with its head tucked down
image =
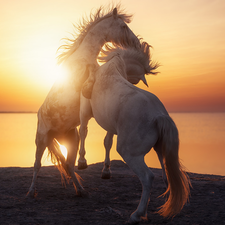
<path id="1" fill-rule="evenodd" d="M 140 40 L 141 42 L 141 40 Z M 108 62 L 115 55 L 120 54 L 122 58 L 132 58 L 140 62 L 145 68 L 145 74 L 157 74 L 155 70 L 160 66 L 157 62 L 152 62 L 150 48 L 152 46 L 147 42 L 141 42 L 139 49 L 134 47 L 124 48 L 120 45 L 105 44 L 102 48 L 98 60 L 99 62 Z"/>

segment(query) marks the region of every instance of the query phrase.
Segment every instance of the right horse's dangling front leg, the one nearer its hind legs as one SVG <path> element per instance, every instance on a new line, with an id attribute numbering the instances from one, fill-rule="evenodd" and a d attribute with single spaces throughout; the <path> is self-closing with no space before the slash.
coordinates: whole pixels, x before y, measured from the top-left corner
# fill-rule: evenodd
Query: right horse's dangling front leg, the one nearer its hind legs
<path id="1" fill-rule="evenodd" d="M 104 139 L 105 162 L 104 162 L 104 168 L 102 170 L 102 179 L 110 179 L 111 177 L 109 153 L 112 147 L 112 143 L 113 143 L 113 134 L 110 132 L 107 132 Z"/>

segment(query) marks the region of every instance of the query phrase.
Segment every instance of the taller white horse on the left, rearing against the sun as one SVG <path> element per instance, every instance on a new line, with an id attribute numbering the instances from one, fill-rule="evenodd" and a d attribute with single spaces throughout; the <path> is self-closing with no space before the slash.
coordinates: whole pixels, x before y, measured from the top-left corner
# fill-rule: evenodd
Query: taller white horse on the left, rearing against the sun
<path id="1" fill-rule="evenodd" d="M 118 7 L 118 6 L 117 6 Z M 28 196 L 35 194 L 35 182 L 41 167 L 42 155 L 48 147 L 52 160 L 72 178 L 78 195 L 86 195 L 82 185 L 74 173 L 74 164 L 79 145 L 77 126 L 80 124 L 80 90 L 88 77 L 87 66 L 97 64 L 97 56 L 106 42 L 140 47 L 139 39 L 129 29 L 127 23 L 131 16 L 124 14 L 119 8 L 104 12 L 100 7 L 90 19 L 84 19 L 78 26 L 80 34 L 70 45 L 62 46 L 65 51 L 59 56 L 68 69 L 67 80 L 56 82 L 38 111 L 38 127 L 36 134 L 36 159 L 34 173 Z M 89 94 L 94 83 L 88 78 Z M 68 150 L 67 159 L 62 155 L 56 139 L 65 144 Z"/>

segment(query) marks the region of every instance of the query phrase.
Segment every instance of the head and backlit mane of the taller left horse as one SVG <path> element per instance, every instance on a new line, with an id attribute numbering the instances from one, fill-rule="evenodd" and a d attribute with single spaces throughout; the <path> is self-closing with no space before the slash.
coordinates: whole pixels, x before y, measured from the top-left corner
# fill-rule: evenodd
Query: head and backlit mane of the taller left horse
<path id="1" fill-rule="evenodd" d="M 127 26 L 127 23 L 131 21 L 131 17 L 131 15 L 123 13 L 120 5 L 117 5 L 114 9 L 100 7 L 96 12 L 90 14 L 90 18 L 84 17 L 80 24 L 74 26 L 76 30 L 76 34 L 73 35 L 74 38 L 64 38 L 66 43 L 58 48 L 58 63 L 62 63 L 73 55 L 85 42 L 84 40 L 94 45 L 94 47 L 90 47 L 84 44 L 96 54 L 99 53 L 106 42 L 125 48 L 140 48 L 139 39 Z M 90 41 L 90 37 L 95 38 L 92 39 L 93 41 Z M 95 54 L 91 56 L 95 58 Z"/>

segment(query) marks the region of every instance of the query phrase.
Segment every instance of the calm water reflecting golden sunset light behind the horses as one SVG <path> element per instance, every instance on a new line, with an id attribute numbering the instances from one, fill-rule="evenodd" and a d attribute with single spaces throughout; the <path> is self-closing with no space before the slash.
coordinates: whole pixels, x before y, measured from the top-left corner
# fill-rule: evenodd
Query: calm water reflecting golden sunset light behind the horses
<path id="1" fill-rule="evenodd" d="M 180 134 L 180 158 L 190 172 L 225 175 L 225 113 L 171 113 Z M 36 114 L 0 114 L 0 167 L 31 167 L 35 157 Z M 95 120 L 89 123 L 86 141 L 88 163 L 104 160 L 105 131 Z M 114 138 L 111 159 L 121 159 Z M 46 152 L 47 153 L 47 152 Z M 145 157 L 159 168 L 154 150 Z M 47 154 L 42 165 L 51 165 Z"/>

